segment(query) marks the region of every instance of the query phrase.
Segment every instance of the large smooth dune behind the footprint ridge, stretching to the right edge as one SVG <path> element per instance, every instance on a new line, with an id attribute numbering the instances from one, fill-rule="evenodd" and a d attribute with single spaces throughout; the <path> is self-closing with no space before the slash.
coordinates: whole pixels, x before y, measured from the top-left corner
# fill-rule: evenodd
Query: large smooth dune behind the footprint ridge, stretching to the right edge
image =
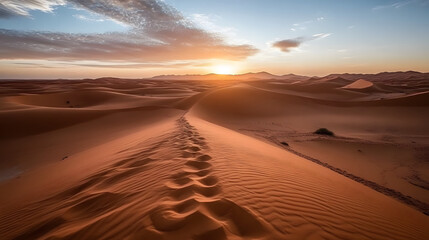
<path id="1" fill-rule="evenodd" d="M 348 136 L 361 133 L 425 135 L 428 114 L 420 107 L 426 105 L 426 96 L 426 93 L 420 93 L 375 101 L 334 101 L 317 95 L 310 98 L 299 93 L 284 94 L 241 84 L 207 94 L 195 104 L 193 111 L 208 120 L 218 120 L 218 123 L 229 121 L 240 125 L 255 122 L 255 119 L 270 125 L 287 122 L 289 128 L 299 132 L 326 126 Z M 413 124 L 405 124 L 406 121 Z"/>

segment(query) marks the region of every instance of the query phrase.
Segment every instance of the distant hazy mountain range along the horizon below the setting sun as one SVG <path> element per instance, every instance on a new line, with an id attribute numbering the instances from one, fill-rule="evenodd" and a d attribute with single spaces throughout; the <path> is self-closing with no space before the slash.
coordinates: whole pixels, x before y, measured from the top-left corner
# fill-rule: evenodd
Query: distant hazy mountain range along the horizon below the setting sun
<path id="1" fill-rule="evenodd" d="M 237 75 L 224 75 L 224 74 L 192 74 L 192 75 L 160 75 L 155 76 L 152 79 L 157 80 L 290 80 L 290 81 L 306 81 L 306 80 L 330 80 L 342 78 L 348 81 L 356 81 L 359 79 L 365 79 L 370 82 L 379 81 L 404 81 L 404 80 L 429 80 L 429 73 L 420 73 L 415 71 L 407 72 L 382 72 L 377 74 L 330 74 L 324 77 L 308 77 L 295 74 L 286 75 L 274 75 L 268 72 L 257 72 L 257 73 L 245 73 Z"/>

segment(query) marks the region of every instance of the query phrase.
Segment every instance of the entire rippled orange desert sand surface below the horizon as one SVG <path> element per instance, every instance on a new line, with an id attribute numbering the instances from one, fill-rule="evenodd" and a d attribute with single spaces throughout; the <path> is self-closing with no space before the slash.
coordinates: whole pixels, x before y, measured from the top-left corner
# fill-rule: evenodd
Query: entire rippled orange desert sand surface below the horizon
<path id="1" fill-rule="evenodd" d="M 429 239 L 425 81 L 0 84 L 0 239 Z"/>

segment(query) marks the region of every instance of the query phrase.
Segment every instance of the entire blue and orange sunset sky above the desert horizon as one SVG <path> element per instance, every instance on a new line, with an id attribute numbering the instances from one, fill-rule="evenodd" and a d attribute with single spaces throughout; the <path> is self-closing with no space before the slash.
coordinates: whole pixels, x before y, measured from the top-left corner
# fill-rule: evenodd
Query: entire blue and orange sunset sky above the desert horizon
<path id="1" fill-rule="evenodd" d="M 2 0 L 0 78 L 429 72 L 429 0 Z"/>

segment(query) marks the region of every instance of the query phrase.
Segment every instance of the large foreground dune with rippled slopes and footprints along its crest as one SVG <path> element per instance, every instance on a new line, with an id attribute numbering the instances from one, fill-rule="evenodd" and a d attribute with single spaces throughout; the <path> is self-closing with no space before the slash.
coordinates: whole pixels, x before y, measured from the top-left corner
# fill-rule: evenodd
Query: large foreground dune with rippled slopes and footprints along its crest
<path id="1" fill-rule="evenodd" d="M 191 123 L 191 124 L 190 124 Z M 6 239 L 425 239 L 427 216 L 279 148 L 190 117 L 0 218 Z M 194 126 L 193 126 L 194 125 Z"/>

